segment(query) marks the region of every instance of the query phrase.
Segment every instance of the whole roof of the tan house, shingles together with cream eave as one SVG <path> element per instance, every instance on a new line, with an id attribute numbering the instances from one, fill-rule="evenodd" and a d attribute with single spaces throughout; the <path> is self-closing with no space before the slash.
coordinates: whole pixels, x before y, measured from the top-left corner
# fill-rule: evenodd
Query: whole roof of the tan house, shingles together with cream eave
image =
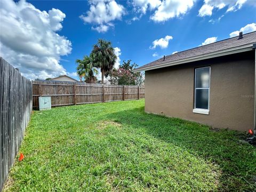
<path id="1" fill-rule="evenodd" d="M 228 38 L 215 43 L 198 46 L 193 49 L 181 51 L 171 55 L 167 55 L 165 59 L 161 58 L 143 65 L 135 72 L 179 65 L 182 63 L 193 62 L 203 59 L 220 57 L 222 55 L 233 54 L 238 52 L 252 50 L 252 44 L 256 43 L 256 31 L 244 34 L 243 38 L 238 39 L 238 36 Z"/>

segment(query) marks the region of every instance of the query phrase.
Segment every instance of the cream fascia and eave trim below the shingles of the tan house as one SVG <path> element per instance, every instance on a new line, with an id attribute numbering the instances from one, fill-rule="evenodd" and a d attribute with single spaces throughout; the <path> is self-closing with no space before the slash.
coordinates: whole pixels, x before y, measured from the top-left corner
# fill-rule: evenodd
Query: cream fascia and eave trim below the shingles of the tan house
<path id="1" fill-rule="evenodd" d="M 242 46 L 232 47 L 232 48 L 226 49 L 226 50 L 215 51 L 215 52 L 212 52 L 212 53 L 198 55 L 196 57 L 181 59 L 181 60 L 172 61 L 172 62 L 166 62 L 166 63 L 162 63 L 162 64 L 155 65 L 155 66 L 149 66 L 149 67 L 134 69 L 134 72 L 159 69 L 159 68 L 163 68 L 163 67 L 170 67 L 170 66 L 174 66 L 174 65 L 180 65 L 180 64 L 188 63 L 188 62 L 194 62 L 194 61 L 199 61 L 199 60 L 204 60 L 204 59 L 211 59 L 211 58 L 215 58 L 215 57 L 221 57 L 221 56 L 224 56 L 224 55 L 229 55 L 229 54 L 234 54 L 234 53 L 241 53 L 241 52 L 245 52 L 245 51 L 251 51 L 253 49 L 252 47 L 253 47 L 253 43 L 250 43 L 250 44 L 246 44 L 246 45 L 242 45 Z"/>

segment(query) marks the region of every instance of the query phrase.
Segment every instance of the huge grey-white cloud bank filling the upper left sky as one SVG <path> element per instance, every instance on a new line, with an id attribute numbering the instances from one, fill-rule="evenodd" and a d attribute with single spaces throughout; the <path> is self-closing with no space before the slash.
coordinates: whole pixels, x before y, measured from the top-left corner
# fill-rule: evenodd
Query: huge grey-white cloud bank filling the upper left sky
<path id="1" fill-rule="evenodd" d="M 44 79 L 67 74 L 60 56 L 71 52 L 71 42 L 56 31 L 66 17 L 58 9 L 40 11 L 21 0 L 1 1 L 1 56 L 22 75 Z"/>

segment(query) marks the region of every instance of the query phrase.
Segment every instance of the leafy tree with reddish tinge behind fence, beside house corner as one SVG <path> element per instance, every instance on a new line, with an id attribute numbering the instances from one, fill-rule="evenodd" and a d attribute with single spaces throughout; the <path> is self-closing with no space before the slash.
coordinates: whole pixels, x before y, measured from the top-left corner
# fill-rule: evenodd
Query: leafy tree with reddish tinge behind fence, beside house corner
<path id="1" fill-rule="evenodd" d="M 123 61 L 123 64 L 118 69 L 114 69 L 110 73 L 110 82 L 118 85 L 143 85 L 144 75 L 142 73 L 134 73 L 137 68 L 136 63 L 131 63 L 131 60 Z"/>

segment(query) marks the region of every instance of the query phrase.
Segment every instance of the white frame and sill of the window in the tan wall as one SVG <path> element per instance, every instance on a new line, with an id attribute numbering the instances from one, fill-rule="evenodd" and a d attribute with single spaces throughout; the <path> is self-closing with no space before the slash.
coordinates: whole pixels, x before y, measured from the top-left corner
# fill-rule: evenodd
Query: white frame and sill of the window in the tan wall
<path id="1" fill-rule="evenodd" d="M 207 87 L 207 88 L 196 88 L 196 69 L 202 69 L 202 68 L 209 68 L 209 87 Z M 193 113 L 209 115 L 209 110 L 210 110 L 210 87 L 211 87 L 211 66 L 195 68 L 194 109 L 193 109 Z M 199 90 L 199 89 L 207 89 L 208 90 L 208 108 L 207 109 L 196 108 L 196 90 Z"/>

